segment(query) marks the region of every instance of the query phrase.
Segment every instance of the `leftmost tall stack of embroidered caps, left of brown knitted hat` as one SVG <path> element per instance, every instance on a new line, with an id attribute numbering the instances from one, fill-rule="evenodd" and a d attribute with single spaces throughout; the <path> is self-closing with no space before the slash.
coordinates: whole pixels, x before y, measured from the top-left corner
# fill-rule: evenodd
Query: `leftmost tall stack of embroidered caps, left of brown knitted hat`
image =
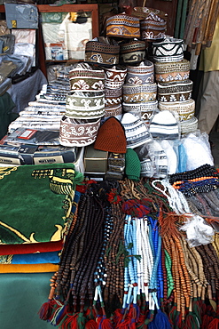
<path id="1" fill-rule="evenodd" d="M 60 144 L 83 147 L 97 137 L 105 116 L 105 73 L 88 63 L 77 63 L 69 72 L 71 92 L 66 96 L 66 113 L 60 123 Z"/>

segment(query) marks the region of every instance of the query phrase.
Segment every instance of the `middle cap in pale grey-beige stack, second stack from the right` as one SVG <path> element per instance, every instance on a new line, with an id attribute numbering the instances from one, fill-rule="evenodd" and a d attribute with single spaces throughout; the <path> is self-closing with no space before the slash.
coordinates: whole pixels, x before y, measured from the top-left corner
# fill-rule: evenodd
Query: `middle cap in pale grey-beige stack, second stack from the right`
<path id="1" fill-rule="evenodd" d="M 156 100 L 157 84 L 124 84 L 123 100 L 127 103 Z"/>

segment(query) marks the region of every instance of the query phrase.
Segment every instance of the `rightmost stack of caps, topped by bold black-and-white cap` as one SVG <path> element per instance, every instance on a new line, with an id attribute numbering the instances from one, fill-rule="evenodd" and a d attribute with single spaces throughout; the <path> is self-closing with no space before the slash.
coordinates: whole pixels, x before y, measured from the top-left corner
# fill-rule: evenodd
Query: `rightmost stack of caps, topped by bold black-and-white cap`
<path id="1" fill-rule="evenodd" d="M 193 83 L 189 79 L 190 63 L 184 60 L 184 40 L 167 36 L 160 43 L 153 43 L 153 60 L 158 83 L 158 107 L 178 114 L 181 133 L 196 130 Z"/>

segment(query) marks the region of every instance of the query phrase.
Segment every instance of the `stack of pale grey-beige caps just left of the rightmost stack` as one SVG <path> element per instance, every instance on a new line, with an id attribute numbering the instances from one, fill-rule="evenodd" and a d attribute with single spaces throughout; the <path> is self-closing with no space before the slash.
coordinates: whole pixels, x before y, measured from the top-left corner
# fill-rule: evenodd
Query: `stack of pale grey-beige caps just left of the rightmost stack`
<path id="1" fill-rule="evenodd" d="M 149 124 L 158 107 L 157 84 L 154 83 L 154 66 L 150 60 L 138 66 L 127 66 L 126 84 L 123 85 L 123 110 L 139 116 Z"/>

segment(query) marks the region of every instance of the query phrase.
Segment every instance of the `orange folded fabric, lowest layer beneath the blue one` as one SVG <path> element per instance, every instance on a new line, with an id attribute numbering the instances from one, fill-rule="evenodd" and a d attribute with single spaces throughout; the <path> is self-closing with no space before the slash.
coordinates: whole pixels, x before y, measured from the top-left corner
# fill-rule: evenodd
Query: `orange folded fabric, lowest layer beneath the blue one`
<path id="1" fill-rule="evenodd" d="M 56 272 L 59 265 L 56 264 L 0 264 L 0 273 L 46 273 Z"/>

